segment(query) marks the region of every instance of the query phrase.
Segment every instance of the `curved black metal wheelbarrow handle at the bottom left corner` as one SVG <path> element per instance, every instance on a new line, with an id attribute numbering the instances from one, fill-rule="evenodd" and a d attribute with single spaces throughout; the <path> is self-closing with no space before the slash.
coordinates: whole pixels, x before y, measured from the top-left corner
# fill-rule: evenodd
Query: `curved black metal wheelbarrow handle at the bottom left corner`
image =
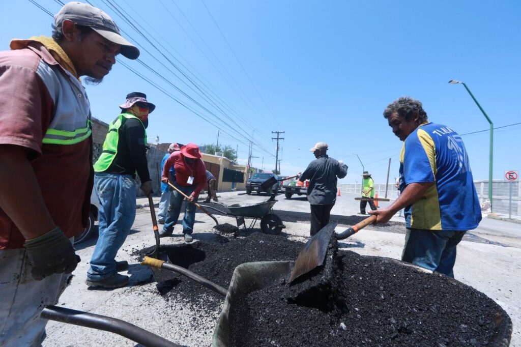
<path id="1" fill-rule="evenodd" d="M 145 346 L 181 346 L 160 336 L 157 336 L 150 331 L 130 324 L 125 320 L 102 315 L 95 315 L 83 311 L 76 311 L 76 309 L 46 306 L 43 309 L 40 317 L 44 319 L 60 321 L 62 323 L 113 332 Z"/>

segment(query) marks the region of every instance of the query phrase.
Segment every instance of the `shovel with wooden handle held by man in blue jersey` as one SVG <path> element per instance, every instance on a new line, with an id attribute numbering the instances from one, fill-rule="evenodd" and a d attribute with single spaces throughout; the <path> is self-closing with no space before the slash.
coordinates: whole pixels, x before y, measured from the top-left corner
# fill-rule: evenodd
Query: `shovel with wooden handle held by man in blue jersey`
<path id="1" fill-rule="evenodd" d="M 336 238 L 338 240 L 346 239 L 375 221 L 376 216 L 370 216 L 336 235 Z M 300 251 L 299 256 L 296 258 L 295 266 L 293 267 L 293 271 L 291 271 L 290 283 L 297 277 L 307 274 L 317 266 L 324 264 L 329 239 L 331 239 L 336 226 L 335 223 L 329 223 L 307 241 Z"/>

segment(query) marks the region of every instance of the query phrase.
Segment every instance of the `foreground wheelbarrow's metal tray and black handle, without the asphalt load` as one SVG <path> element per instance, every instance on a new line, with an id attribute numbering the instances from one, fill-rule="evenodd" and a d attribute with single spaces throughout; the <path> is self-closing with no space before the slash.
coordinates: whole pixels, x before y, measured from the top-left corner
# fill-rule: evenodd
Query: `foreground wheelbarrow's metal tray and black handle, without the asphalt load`
<path id="1" fill-rule="evenodd" d="M 415 265 L 403 263 L 394 259 L 388 259 L 388 261 L 400 266 L 408 266 L 417 271 L 425 272 L 426 276 L 439 276 L 430 270 Z M 233 317 L 231 315 L 233 314 L 232 308 L 238 304 L 239 300 L 251 292 L 277 285 L 283 279 L 288 279 L 293 269 L 293 265 L 294 262 L 292 261 L 254 262 L 244 263 L 235 268 L 230 286 L 226 292 L 224 306 L 222 307 L 222 311 L 214 328 L 212 337 L 212 345 L 214 347 L 225 347 L 233 344 L 233 341 L 230 340 L 231 325 L 233 322 Z M 444 277 L 444 280 L 449 281 L 454 285 L 466 286 L 465 284 L 449 277 Z M 212 290 L 216 291 L 220 295 L 225 294 L 217 288 Z M 146 346 L 178 346 L 178 344 L 170 342 L 144 329 L 133 326 L 125 321 L 81 311 L 74 311 L 63 307 L 47 306 L 42 312 L 42 318 L 115 332 Z M 495 333 L 488 345 L 507 347 L 510 344 L 512 335 L 512 321 L 501 308 L 499 308 L 495 313 L 494 321 Z"/>

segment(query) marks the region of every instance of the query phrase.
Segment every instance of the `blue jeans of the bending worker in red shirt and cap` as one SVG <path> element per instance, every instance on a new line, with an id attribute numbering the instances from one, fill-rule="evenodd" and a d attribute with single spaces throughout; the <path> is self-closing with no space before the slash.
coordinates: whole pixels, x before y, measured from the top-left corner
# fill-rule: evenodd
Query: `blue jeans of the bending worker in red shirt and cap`
<path id="1" fill-rule="evenodd" d="M 190 187 L 182 187 L 177 183 L 173 183 L 176 188 L 182 191 L 184 194 L 190 196 L 192 192 L 195 190 L 195 187 L 191 185 Z M 177 224 L 177 220 L 179 219 L 179 214 L 181 213 L 181 206 L 183 204 L 184 196 L 181 195 L 178 191 L 173 191 L 172 196 L 170 196 L 170 206 L 168 206 L 168 213 L 165 219 L 165 225 L 163 226 L 163 231 L 171 233 L 173 231 L 173 226 Z M 197 202 L 197 197 L 194 202 Z M 184 204 L 184 217 L 183 217 L 183 234 L 191 234 L 194 230 L 194 221 L 195 221 L 195 205 L 189 203 L 188 201 Z"/>

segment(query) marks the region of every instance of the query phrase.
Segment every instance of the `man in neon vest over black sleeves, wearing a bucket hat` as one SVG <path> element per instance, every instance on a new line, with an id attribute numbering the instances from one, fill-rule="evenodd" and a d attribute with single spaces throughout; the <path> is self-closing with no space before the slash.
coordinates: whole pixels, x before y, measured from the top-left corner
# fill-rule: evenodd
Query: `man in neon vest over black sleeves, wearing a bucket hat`
<path id="1" fill-rule="evenodd" d="M 136 173 L 143 193 L 152 194 L 145 129 L 155 105 L 146 100 L 145 94 L 133 92 L 119 107 L 122 113 L 110 123 L 103 151 L 94 164 L 94 187 L 100 199 L 100 236 L 87 271 L 86 283 L 91 287 L 119 288 L 128 284 L 128 276 L 118 274 L 128 268 L 128 263 L 116 262 L 115 258 L 135 218 Z"/>

